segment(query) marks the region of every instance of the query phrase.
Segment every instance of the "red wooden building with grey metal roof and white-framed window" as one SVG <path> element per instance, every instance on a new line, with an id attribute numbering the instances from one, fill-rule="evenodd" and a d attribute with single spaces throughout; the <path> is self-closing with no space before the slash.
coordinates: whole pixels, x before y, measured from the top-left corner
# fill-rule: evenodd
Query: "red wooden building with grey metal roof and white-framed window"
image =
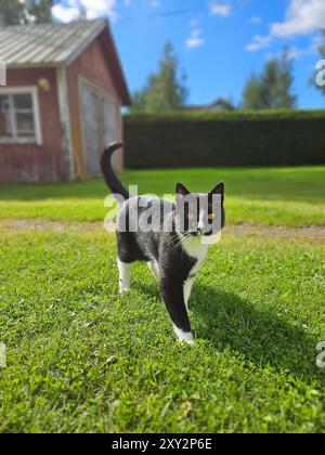
<path id="1" fill-rule="evenodd" d="M 0 182 L 100 173 L 130 96 L 105 20 L 0 27 Z M 116 157 L 122 167 L 122 155 Z"/>

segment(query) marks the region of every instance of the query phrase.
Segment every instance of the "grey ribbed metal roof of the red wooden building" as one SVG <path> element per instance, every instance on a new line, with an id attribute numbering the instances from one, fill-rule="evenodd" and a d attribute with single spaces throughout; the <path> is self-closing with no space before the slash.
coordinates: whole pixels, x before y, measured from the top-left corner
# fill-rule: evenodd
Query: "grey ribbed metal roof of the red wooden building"
<path id="1" fill-rule="evenodd" d="M 0 58 L 8 67 L 60 66 L 77 56 L 105 27 L 105 20 L 2 26 Z"/>

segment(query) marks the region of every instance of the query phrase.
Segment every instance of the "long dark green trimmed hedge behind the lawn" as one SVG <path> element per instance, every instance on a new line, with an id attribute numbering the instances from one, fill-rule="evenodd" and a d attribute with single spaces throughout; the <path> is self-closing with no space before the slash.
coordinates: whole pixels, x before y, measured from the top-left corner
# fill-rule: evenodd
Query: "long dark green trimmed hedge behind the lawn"
<path id="1" fill-rule="evenodd" d="M 131 169 L 325 164 L 325 110 L 125 117 Z"/>

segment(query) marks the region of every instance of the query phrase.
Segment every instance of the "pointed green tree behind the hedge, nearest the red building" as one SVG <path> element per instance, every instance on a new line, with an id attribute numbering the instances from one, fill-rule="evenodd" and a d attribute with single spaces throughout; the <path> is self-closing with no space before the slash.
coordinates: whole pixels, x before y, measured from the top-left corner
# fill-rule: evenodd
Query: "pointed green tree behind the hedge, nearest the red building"
<path id="1" fill-rule="evenodd" d="M 167 42 L 157 74 L 151 75 L 144 89 L 133 94 L 132 112 L 168 113 L 182 107 L 187 98 L 184 80 L 184 75 L 179 79 L 179 61 L 172 44 Z"/>

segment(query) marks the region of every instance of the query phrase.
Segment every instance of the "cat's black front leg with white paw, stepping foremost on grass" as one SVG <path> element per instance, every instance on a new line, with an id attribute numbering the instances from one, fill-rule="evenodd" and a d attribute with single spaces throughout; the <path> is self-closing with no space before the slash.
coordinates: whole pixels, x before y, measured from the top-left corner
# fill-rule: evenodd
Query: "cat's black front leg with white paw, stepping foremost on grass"
<path id="1" fill-rule="evenodd" d="M 160 291 L 178 339 L 194 344 L 184 300 L 183 284 L 176 284 L 172 278 L 162 278 L 160 281 Z"/>

